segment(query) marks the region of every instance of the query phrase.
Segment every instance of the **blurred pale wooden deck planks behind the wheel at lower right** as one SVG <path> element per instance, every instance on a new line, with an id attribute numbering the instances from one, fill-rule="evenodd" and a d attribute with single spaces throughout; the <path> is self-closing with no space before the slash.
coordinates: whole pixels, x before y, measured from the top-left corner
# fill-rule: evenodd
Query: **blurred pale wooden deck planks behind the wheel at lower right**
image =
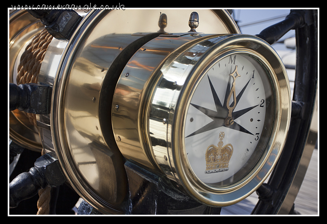
<path id="1" fill-rule="evenodd" d="M 254 192 L 237 204 L 223 207 L 220 214 L 250 215 L 257 202 L 258 196 Z M 318 215 L 318 149 L 313 151 L 307 173 L 294 204 L 295 210 L 301 215 Z"/>

